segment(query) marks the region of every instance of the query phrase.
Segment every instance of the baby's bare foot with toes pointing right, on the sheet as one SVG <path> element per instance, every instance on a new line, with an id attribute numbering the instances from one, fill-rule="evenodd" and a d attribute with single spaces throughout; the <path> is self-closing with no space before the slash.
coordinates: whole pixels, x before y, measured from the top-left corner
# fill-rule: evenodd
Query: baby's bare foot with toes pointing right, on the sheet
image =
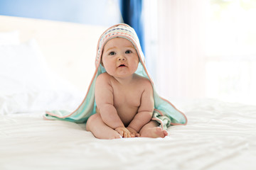
<path id="1" fill-rule="evenodd" d="M 141 133 L 141 137 L 166 137 L 168 132 L 160 127 L 148 128 Z"/>

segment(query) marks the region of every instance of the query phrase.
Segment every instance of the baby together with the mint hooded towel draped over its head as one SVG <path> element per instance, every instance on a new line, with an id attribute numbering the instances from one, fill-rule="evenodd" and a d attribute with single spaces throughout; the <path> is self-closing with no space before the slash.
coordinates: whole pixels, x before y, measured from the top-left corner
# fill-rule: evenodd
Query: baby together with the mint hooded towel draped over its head
<path id="1" fill-rule="evenodd" d="M 99 139 L 166 137 L 171 125 L 187 124 L 186 115 L 156 93 L 130 26 L 121 23 L 102 33 L 95 66 L 80 106 L 71 113 L 46 111 L 44 119 L 86 123 Z"/>

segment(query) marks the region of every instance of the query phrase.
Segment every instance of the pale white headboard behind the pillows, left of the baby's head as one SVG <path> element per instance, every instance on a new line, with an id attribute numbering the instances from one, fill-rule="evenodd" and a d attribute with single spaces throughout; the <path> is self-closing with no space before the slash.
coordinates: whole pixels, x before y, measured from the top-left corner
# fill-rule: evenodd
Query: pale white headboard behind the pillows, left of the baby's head
<path id="1" fill-rule="evenodd" d="M 95 71 L 97 40 L 101 26 L 0 16 L 0 31 L 18 30 L 21 42 L 35 38 L 48 67 L 86 91 Z"/>

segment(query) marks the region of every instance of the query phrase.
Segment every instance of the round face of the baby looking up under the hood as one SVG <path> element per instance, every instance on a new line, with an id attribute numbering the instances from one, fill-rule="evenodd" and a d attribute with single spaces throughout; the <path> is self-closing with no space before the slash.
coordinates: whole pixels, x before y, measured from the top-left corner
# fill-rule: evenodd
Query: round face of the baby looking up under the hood
<path id="1" fill-rule="evenodd" d="M 125 38 L 113 38 L 104 47 L 102 63 L 111 76 L 129 77 L 136 72 L 139 57 L 132 42 Z"/>

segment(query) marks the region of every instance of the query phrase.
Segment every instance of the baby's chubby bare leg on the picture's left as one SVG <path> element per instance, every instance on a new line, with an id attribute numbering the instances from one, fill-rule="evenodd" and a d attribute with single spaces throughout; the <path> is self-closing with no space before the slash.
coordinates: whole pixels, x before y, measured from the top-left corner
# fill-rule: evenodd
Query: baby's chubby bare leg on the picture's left
<path id="1" fill-rule="evenodd" d="M 86 123 L 86 130 L 92 132 L 98 139 L 110 140 L 122 138 L 117 131 L 113 130 L 103 122 L 100 113 L 95 113 L 90 116 Z"/>

